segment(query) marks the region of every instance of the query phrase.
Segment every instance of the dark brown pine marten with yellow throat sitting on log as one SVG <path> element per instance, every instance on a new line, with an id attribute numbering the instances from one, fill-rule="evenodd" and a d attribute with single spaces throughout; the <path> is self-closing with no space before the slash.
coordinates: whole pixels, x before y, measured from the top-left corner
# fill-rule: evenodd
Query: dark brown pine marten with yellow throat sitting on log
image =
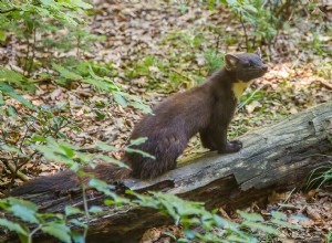
<path id="1" fill-rule="evenodd" d="M 176 159 L 197 133 L 203 146 L 210 150 L 219 154 L 239 151 L 241 141 L 227 140 L 228 125 L 242 92 L 267 70 L 259 54 L 226 54 L 224 68 L 214 73 L 203 85 L 166 98 L 153 108 L 153 115 L 145 115 L 135 126 L 131 139 L 147 137 L 147 140 L 132 148 L 148 152 L 155 159 L 125 152 L 123 161 L 131 169 L 101 163 L 95 170 L 85 170 L 107 182 L 126 178 L 156 178 L 176 167 Z M 14 189 L 11 194 L 68 190 L 80 182 L 79 177 L 68 170 L 32 180 Z"/>

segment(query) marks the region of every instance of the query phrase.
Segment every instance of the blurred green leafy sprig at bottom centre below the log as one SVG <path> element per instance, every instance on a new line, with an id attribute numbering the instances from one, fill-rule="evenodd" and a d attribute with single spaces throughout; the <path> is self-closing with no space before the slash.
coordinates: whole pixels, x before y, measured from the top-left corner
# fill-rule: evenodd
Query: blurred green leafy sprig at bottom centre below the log
<path id="1" fill-rule="evenodd" d="M 238 224 L 205 210 L 203 203 L 184 201 L 173 194 L 151 192 L 152 197 L 148 197 L 132 191 L 127 193 L 137 198 L 133 201 L 137 205 L 157 209 L 170 215 L 175 224 L 183 225 L 188 240 L 194 242 L 258 242 L 258 239 L 264 234 L 279 235 L 277 228 L 301 229 L 288 223 L 287 215 L 281 212 L 272 212 L 271 220 L 266 221 L 259 214 L 238 211 L 243 219 Z M 205 232 L 194 231 L 195 226 L 201 226 Z"/>

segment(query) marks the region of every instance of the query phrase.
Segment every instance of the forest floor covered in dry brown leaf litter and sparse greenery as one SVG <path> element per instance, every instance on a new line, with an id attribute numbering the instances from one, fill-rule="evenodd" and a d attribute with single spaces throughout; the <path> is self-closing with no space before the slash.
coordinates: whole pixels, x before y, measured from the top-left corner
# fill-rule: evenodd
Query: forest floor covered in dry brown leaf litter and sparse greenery
<path id="1" fill-rule="evenodd" d="M 204 82 L 214 65 L 220 64 L 220 53 L 246 51 L 241 24 L 224 6 L 210 11 L 193 3 L 181 12 L 179 6 L 163 1 L 148 4 L 143 1 L 110 2 L 95 2 L 95 14 L 86 19 L 86 29 L 105 38 L 93 43 L 86 42 L 90 50 L 80 50 L 80 59 L 107 64 L 113 81 L 149 106 L 172 93 L 183 92 Z M 331 38 L 326 33 L 320 40 L 323 47 L 314 46 L 314 36 L 308 21 L 312 21 L 313 25 L 320 24 L 309 15 L 303 17 L 302 23 L 299 21 L 298 25 L 290 27 L 289 32 L 280 33 L 273 46 L 262 46 L 269 72 L 257 80 L 240 99 L 230 126 L 231 137 L 332 99 Z M 222 30 L 221 33 L 218 30 Z M 61 34 L 54 33 L 53 38 L 60 39 Z M 6 46 L 0 46 L 1 63 L 20 71 L 17 56 L 24 56 L 25 49 L 24 41 L 12 36 Z M 41 64 L 32 77 L 42 81 L 40 70 L 50 56 L 64 60 L 65 65 L 65 57 L 77 56 L 77 50 L 65 53 L 37 52 L 35 60 Z M 114 103 L 111 94 L 96 93 L 86 83 L 63 85 L 43 80 L 35 86 L 37 91 L 24 97 L 33 105 L 65 106 L 66 109 L 61 113 L 65 113 L 81 129 L 64 128 L 63 133 L 71 138 L 71 142 L 83 148 L 90 147 L 96 139 L 123 148 L 134 124 L 143 116 L 142 110 L 129 105 L 121 106 Z M 6 102 L 21 114 L 29 113 L 14 99 Z M 24 125 L 20 120 L 9 118 L 7 123 L 2 128 L 7 126 L 12 139 L 15 139 L 15 134 L 22 136 L 24 129 L 21 128 Z M 206 150 L 198 137 L 194 137 L 184 157 L 199 152 Z M 113 156 L 121 158 L 120 152 Z M 61 168 L 61 163 L 44 163 L 37 157 L 21 171 L 33 178 L 54 173 Z M 8 180 L 2 178 L 1 184 L 7 184 Z M 21 181 L 17 179 L 17 183 Z M 323 242 L 329 232 L 332 237 L 331 192 L 332 187 L 329 184 L 307 192 L 295 189 L 276 192 L 269 197 L 264 207 L 252 202 L 245 210 L 262 215 L 279 210 L 294 215 L 292 220 L 302 225 L 303 230 L 283 230 L 284 235 L 279 239 L 281 242 Z M 236 212 L 220 212 L 222 216 L 239 220 Z M 163 235 L 164 231 L 179 234 L 179 229 L 173 225 L 152 229 L 146 232 L 145 242 L 170 242 L 169 236 Z"/>

